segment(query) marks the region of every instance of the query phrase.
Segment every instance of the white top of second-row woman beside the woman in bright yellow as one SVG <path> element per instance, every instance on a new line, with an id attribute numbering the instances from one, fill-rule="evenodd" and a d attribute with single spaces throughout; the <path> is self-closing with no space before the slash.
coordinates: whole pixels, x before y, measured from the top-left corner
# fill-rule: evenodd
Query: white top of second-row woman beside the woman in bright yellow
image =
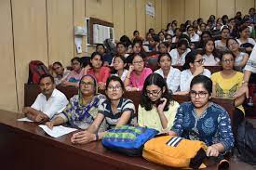
<path id="1" fill-rule="evenodd" d="M 201 75 L 208 76 L 210 78 L 211 73 L 208 69 L 204 69 L 204 72 Z M 194 78 L 194 75 L 192 72 L 190 72 L 189 69 L 182 71 L 181 73 L 181 91 L 189 91 L 190 90 L 190 83 L 192 79 Z"/>

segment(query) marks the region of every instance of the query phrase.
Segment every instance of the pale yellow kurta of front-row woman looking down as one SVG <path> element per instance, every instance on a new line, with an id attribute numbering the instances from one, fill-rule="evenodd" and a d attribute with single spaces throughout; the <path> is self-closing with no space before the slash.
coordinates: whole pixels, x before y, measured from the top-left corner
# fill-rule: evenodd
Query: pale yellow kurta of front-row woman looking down
<path id="1" fill-rule="evenodd" d="M 168 111 L 164 111 L 164 114 L 168 120 L 168 127 L 163 129 L 160 117 L 155 107 L 151 111 L 146 111 L 139 105 L 138 109 L 138 124 L 140 126 L 147 126 L 149 128 L 154 128 L 160 133 L 168 132 L 173 125 L 176 112 L 179 108 L 179 103 L 177 101 L 170 102 L 168 106 Z"/>

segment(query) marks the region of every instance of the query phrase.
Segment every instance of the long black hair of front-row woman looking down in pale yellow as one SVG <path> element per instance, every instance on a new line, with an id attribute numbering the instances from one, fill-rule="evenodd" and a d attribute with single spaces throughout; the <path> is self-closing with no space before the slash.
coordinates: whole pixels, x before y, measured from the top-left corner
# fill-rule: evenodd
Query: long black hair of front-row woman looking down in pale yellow
<path id="1" fill-rule="evenodd" d="M 154 104 L 156 104 L 156 107 L 157 107 L 157 103 L 152 101 L 147 96 L 147 89 L 146 88 L 147 88 L 148 85 L 157 85 L 158 87 L 161 88 L 161 90 L 162 90 L 162 97 L 161 98 L 167 98 L 167 103 L 166 103 L 166 106 L 164 108 L 164 111 L 168 111 L 168 105 L 169 105 L 170 101 L 172 101 L 171 94 L 168 91 L 168 85 L 167 85 L 165 79 L 158 73 L 151 73 L 146 78 L 146 80 L 144 82 L 144 85 L 143 85 L 142 92 L 141 92 L 141 107 L 145 108 L 146 111 L 151 111 Z M 166 88 L 165 92 L 163 92 L 164 87 Z"/>

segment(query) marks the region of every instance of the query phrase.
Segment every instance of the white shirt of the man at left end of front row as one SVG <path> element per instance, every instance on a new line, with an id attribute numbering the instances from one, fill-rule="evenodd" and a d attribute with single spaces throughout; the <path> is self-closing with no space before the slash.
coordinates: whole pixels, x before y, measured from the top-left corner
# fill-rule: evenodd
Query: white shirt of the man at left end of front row
<path id="1" fill-rule="evenodd" d="M 48 99 L 40 93 L 31 107 L 34 110 L 44 112 L 51 119 L 55 114 L 63 111 L 68 103 L 66 96 L 61 91 L 54 89 Z"/>

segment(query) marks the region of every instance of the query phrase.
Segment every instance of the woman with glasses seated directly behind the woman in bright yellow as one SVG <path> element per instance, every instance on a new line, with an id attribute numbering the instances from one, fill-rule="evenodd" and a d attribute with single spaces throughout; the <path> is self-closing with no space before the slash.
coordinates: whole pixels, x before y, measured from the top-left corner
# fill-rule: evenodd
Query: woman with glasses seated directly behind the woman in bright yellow
<path id="1" fill-rule="evenodd" d="M 246 66 L 247 61 L 249 59 L 249 55 L 247 53 L 241 52 L 239 49 L 238 42 L 235 38 L 229 38 L 227 40 L 227 46 L 229 50 L 235 55 L 235 63 L 234 66 L 236 67 L 236 71 L 242 71 L 243 68 Z"/>

